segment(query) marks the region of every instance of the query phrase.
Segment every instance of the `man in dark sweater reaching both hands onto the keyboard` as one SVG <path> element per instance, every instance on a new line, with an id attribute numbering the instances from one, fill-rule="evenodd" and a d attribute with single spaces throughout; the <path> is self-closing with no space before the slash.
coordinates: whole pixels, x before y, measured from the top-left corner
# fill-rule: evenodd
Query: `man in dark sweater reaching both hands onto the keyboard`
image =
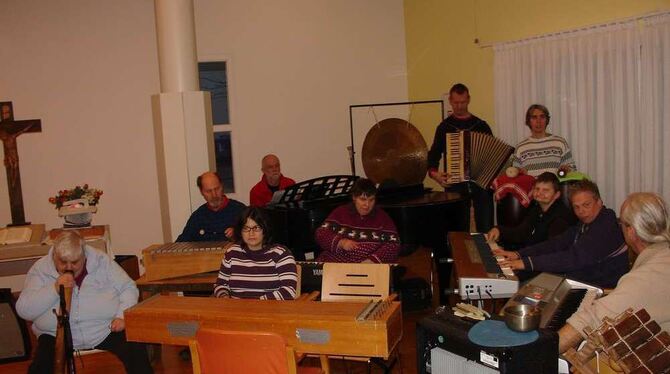
<path id="1" fill-rule="evenodd" d="M 584 179 L 570 187 L 579 223 L 563 234 L 517 252 L 494 250 L 501 267 L 546 271 L 603 288 L 613 288 L 628 272 L 628 247 L 616 213 L 605 208 L 598 186 Z"/>

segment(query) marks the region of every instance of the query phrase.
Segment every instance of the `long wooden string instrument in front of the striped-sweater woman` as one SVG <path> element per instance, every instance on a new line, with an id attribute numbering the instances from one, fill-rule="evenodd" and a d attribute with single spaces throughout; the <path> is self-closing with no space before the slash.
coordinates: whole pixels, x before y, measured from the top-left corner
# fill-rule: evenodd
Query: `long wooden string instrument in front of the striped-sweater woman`
<path id="1" fill-rule="evenodd" d="M 267 331 L 298 352 L 388 358 L 402 337 L 400 302 L 218 299 L 155 295 L 124 313 L 130 341 L 188 345 L 201 327 Z"/>

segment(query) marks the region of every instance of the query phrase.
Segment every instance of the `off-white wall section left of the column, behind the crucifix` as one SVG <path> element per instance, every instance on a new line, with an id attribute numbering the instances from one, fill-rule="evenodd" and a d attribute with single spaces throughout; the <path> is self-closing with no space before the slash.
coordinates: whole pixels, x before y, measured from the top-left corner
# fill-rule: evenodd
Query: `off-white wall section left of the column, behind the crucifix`
<path id="1" fill-rule="evenodd" d="M 26 219 L 62 225 L 49 196 L 88 183 L 104 190 L 94 223 L 111 226 L 117 253 L 159 241 L 153 2 L 4 0 L 1 8 L 0 100 L 13 101 L 15 119 L 42 120 L 42 133 L 18 138 Z"/>

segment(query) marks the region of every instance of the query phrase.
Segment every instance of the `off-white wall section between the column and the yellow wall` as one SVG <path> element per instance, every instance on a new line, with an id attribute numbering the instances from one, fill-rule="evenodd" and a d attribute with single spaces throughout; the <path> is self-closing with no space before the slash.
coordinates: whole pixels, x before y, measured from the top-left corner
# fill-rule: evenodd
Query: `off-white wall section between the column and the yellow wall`
<path id="1" fill-rule="evenodd" d="M 407 100 L 401 0 L 195 5 L 199 59 L 230 59 L 240 200 L 266 153 L 296 180 L 350 174 L 349 105 Z"/>

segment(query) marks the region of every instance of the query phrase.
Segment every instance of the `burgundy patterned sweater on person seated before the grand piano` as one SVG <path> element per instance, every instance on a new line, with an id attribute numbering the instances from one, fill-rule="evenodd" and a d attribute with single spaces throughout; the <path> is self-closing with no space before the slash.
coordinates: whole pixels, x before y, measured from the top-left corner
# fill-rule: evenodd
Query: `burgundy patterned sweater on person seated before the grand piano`
<path id="1" fill-rule="evenodd" d="M 353 203 L 336 208 L 316 230 L 316 242 L 322 249 L 317 261 L 323 262 L 395 262 L 400 239 L 391 217 L 379 207 L 361 216 Z M 337 247 L 341 239 L 357 242 L 351 251 Z"/>

